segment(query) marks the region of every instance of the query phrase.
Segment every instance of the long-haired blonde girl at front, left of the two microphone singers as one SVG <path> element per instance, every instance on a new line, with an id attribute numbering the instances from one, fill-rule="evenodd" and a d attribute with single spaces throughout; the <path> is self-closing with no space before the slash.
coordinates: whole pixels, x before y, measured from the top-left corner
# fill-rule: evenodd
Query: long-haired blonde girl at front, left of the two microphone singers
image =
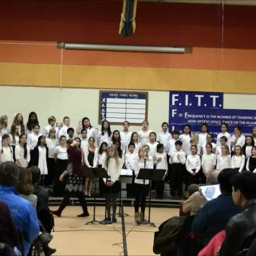
<path id="1" fill-rule="evenodd" d="M 106 221 L 111 221 L 111 204 L 112 204 L 112 223 L 116 223 L 117 197 L 120 191 L 119 176 L 121 174 L 121 159 L 115 146 L 107 149 L 107 157 L 102 167 L 106 169 L 110 178 L 103 179 L 106 193 Z"/>

